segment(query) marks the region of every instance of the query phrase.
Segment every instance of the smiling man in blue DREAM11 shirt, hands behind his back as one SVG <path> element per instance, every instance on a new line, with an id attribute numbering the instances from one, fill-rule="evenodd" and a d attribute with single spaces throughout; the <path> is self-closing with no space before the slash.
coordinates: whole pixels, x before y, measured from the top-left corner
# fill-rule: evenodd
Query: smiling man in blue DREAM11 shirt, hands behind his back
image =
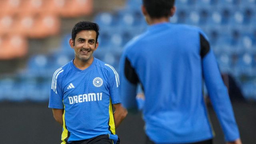
<path id="1" fill-rule="evenodd" d="M 93 56 L 98 35 L 98 24 L 78 22 L 69 41 L 75 58 L 53 75 L 49 108 L 63 125 L 61 144 L 119 143 L 115 128 L 127 111 L 120 103 L 118 73 Z"/>

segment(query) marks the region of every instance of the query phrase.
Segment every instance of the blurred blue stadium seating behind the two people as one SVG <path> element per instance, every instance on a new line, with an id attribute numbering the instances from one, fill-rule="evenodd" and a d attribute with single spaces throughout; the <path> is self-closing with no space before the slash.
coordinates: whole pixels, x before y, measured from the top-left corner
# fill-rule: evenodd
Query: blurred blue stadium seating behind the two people
<path id="1" fill-rule="evenodd" d="M 100 25 L 94 56 L 116 70 L 124 45 L 147 28 L 141 4 L 141 0 L 127 0 L 123 9 L 94 17 Z M 202 28 L 221 72 L 232 74 L 241 83 L 244 96 L 256 100 L 256 0 L 176 0 L 176 6 L 170 21 Z M 0 100 L 48 100 L 52 74 L 74 58 L 70 38 L 65 34 L 60 48 L 29 58 L 26 69 L 15 78 L 0 80 Z"/>

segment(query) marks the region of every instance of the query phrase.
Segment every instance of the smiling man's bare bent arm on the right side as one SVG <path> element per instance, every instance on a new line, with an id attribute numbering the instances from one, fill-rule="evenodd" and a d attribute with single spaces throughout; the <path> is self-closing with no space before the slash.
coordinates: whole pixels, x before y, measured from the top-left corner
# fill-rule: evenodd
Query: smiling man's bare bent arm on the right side
<path id="1" fill-rule="evenodd" d="M 124 118 L 127 115 L 127 110 L 122 106 L 121 103 L 113 104 L 115 108 L 114 112 L 114 121 L 115 121 L 115 127 L 118 128 L 118 126 L 121 124 L 121 122 L 124 120 Z"/>

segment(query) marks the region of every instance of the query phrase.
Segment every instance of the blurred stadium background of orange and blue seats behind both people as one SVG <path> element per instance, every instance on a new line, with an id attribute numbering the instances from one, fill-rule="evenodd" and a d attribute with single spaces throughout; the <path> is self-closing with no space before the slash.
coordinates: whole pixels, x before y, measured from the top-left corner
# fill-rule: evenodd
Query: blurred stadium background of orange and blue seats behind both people
<path id="1" fill-rule="evenodd" d="M 100 25 L 94 56 L 116 68 L 124 44 L 147 28 L 141 0 L 0 0 L 0 143 L 60 144 L 48 98 L 55 70 L 72 60 L 74 24 Z M 256 143 L 256 0 L 176 0 L 172 23 L 204 30 L 229 90 L 244 144 Z M 205 90 L 207 97 L 207 90 Z M 223 133 L 208 104 L 216 137 Z M 129 114 L 122 144 L 144 144 L 141 114 Z"/>

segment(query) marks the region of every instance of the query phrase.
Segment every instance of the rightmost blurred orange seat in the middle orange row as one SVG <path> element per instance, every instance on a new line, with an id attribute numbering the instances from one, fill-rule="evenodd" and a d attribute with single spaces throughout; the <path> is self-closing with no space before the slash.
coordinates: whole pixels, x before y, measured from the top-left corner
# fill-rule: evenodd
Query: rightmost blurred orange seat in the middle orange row
<path id="1" fill-rule="evenodd" d="M 56 15 L 39 14 L 34 20 L 34 25 L 28 35 L 30 38 L 45 38 L 56 35 L 60 31 L 60 20 Z"/>

